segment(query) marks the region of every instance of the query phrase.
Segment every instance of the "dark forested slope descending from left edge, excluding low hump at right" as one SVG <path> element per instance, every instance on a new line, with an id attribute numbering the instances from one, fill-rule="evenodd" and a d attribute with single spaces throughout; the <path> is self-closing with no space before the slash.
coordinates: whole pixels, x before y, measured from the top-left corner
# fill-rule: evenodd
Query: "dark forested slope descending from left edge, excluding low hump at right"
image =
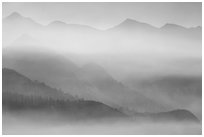
<path id="1" fill-rule="evenodd" d="M 48 114 L 57 112 L 64 117 L 75 119 L 126 116 L 103 103 L 78 100 L 44 83 L 32 81 L 12 69 L 4 68 L 2 74 L 3 112 L 40 110 Z"/>

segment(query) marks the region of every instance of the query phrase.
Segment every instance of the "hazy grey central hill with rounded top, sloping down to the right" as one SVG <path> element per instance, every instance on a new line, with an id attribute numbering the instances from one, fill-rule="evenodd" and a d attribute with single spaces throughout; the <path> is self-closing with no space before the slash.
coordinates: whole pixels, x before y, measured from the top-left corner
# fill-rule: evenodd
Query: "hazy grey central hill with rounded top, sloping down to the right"
<path id="1" fill-rule="evenodd" d="M 122 107 L 129 107 L 139 112 L 166 111 L 170 106 L 159 104 L 137 90 L 131 90 L 121 82 L 112 78 L 105 69 L 91 63 L 83 66 L 78 78 L 96 87 L 99 92 L 106 95 L 109 100 Z"/>

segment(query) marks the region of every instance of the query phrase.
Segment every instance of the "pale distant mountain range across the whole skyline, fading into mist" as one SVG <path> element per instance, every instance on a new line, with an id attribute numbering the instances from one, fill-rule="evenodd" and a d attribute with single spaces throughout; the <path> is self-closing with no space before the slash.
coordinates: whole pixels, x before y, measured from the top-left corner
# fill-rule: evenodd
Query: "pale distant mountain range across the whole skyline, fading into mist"
<path id="1" fill-rule="evenodd" d="M 78 31 L 79 33 L 95 33 L 96 35 L 103 35 L 109 32 L 117 33 L 136 33 L 136 34 L 148 34 L 149 35 L 167 35 L 176 36 L 186 39 L 197 39 L 201 40 L 201 31 L 200 26 L 195 28 L 185 28 L 176 24 L 166 24 L 161 28 L 153 27 L 147 23 L 138 22 L 133 19 L 126 19 L 119 25 L 116 25 L 113 28 L 110 28 L 106 31 L 97 30 L 90 26 L 79 25 L 79 24 L 67 24 L 62 21 L 53 21 L 48 25 L 41 25 L 36 23 L 34 20 L 28 17 L 23 17 L 17 12 L 12 13 L 11 15 L 3 18 L 3 36 L 7 39 L 4 39 L 4 45 L 11 44 L 11 42 L 22 34 L 29 33 L 31 31 L 45 31 L 45 30 L 57 30 L 57 31 Z M 11 33 L 12 32 L 12 33 Z M 10 35 L 9 35 L 10 34 Z"/>

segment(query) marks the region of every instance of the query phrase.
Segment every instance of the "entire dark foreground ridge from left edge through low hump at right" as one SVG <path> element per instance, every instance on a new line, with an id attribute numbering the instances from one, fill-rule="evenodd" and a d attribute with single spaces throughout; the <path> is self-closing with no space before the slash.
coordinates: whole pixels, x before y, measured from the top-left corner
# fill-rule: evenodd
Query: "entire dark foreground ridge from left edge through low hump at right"
<path id="1" fill-rule="evenodd" d="M 122 110 L 97 101 L 74 98 L 70 94 L 32 81 L 26 76 L 4 68 L 2 71 L 2 108 L 4 112 L 46 112 L 71 119 L 134 118 L 135 120 L 199 122 L 188 110 L 177 109 L 160 113 L 125 114 Z"/>

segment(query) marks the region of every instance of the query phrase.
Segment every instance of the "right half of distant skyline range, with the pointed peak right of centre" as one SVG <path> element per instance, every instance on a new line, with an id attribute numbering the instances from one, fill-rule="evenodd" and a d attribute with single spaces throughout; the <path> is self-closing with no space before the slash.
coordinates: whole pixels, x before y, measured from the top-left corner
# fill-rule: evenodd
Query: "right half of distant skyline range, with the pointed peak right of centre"
<path id="1" fill-rule="evenodd" d="M 180 25 L 167 23 L 161 28 L 156 28 L 147 23 L 138 22 L 133 19 L 126 19 L 119 25 L 111 28 L 110 30 L 119 33 L 136 33 L 136 34 L 146 34 L 146 35 L 167 35 L 167 37 L 180 37 L 186 39 L 199 39 L 201 40 L 202 28 L 192 27 L 185 28 Z"/>

